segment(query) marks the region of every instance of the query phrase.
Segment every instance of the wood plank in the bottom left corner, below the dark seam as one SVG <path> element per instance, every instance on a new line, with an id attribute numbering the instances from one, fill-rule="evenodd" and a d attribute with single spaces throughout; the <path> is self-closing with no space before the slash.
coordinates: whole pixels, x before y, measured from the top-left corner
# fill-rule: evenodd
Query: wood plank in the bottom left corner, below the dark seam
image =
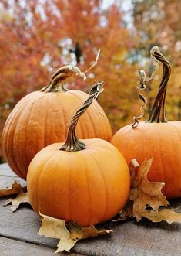
<path id="1" fill-rule="evenodd" d="M 1 256 L 52 256 L 55 250 L 22 241 L 15 241 L 6 237 L 0 237 Z M 62 254 L 67 255 L 67 254 Z M 81 256 L 80 254 L 69 254 L 69 256 Z"/>

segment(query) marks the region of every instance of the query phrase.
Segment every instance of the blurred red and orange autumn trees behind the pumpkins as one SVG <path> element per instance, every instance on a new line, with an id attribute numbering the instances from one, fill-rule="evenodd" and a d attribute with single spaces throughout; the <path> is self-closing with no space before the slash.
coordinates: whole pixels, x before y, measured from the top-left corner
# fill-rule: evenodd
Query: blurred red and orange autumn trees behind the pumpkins
<path id="1" fill-rule="evenodd" d="M 89 91 L 105 81 L 100 104 L 113 131 L 132 122 L 141 102 L 138 71 L 149 77 L 149 50 L 158 45 L 172 64 L 166 117 L 181 119 L 181 0 L 1 0 L 0 1 L 0 162 L 2 128 L 25 94 L 49 83 L 53 71 L 72 63 L 86 70 L 101 49 L 99 63 L 86 81 L 69 88 Z M 162 68 L 147 84 L 147 114 Z"/>

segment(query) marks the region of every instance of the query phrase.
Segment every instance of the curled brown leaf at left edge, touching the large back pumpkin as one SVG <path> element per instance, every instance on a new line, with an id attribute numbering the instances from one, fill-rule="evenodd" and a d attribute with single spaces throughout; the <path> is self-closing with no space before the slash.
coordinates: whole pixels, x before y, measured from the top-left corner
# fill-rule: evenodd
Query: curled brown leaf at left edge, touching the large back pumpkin
<path id="1" fill-rule="evenodd" d="M 11 183 L 12 181 L 8 181 L 8 183 Z M 26 191 L 26 184 L 25 182 L 23 184 L 21 184 L 20 182 L 13 180 L 13 183 L 10 185 L 8 184 L 8 186 L 6 186 L 5 188 L 1 188 L 0 189 L 0 197 L 4 197 L 4 196 L 12 196 L 18 193 L 22 193 Z"/>

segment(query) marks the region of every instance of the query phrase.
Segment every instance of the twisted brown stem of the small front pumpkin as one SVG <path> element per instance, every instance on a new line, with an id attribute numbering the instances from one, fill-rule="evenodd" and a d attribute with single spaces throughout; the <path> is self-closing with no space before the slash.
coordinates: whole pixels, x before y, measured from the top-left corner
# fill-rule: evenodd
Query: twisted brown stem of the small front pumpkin
<path id="1" fill-rule="evenodd" d="M 98 98 L 99 94 L 103 90 L 104 90 L 103 82 L 93 84 L 89 98 L 84 102 L 82 107 L 79 108 L 79 111 L 77 111 L 76 114 L 73 116 L 72 121 L 69 125 L 67 138 L 65 140 L 64 145 L 62 145 L 62 148 L 60 148 L 60 150 L 75 152 L 75 151 L 85 149 L 85 144 L 79 141 L 79 139 L 75 135 L 76 125 L 79 121 L 80 116 L 86 111 L 86 109 L 90 106 L 90 104 L 92 104 L 92 101 Z"/>

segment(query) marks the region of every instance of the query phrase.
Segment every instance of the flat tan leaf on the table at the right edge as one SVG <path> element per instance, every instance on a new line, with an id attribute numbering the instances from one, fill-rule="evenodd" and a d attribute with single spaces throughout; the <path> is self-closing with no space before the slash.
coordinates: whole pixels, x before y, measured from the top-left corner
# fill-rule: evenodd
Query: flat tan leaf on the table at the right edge
<path id="1" fill-rule="evenodd" d="M 156 212 L 155 210 L 145 210 L 142 213 L 142 217 L 151 220 L 152 222 L 160 222 L 166 220 L 168 224 L 172 224 L 173 222 L 181 223 L 181 213 L 176 213 L 171 209 L 163 209 Z"/>

